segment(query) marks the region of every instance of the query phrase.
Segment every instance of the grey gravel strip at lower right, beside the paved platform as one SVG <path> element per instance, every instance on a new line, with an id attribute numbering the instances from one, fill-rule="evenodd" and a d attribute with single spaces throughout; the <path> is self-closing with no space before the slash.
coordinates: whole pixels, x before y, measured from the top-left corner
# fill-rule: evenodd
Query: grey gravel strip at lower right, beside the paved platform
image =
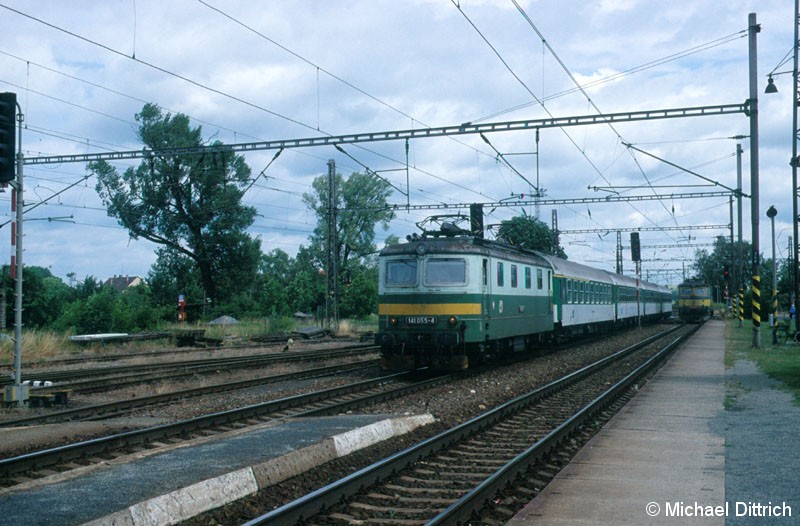
<path id="1" fill-rule="evenodd" d="M 787 351 L 787 352 L 795 352 Z M 800 407 L 749 360 L 725 372 L 725 500 L 729 526 L 800 524 Z M 792 517 L 736 517 L 735 503 L 791 507 Z"/>

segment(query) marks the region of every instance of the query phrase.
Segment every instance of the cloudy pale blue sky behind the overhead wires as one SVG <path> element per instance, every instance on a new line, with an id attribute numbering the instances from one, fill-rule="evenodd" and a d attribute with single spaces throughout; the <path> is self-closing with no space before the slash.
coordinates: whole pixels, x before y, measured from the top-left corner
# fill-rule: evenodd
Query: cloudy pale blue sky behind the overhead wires
<path id="1" fill-rule="evenodd" d="M 85 163 L 32 162 L 141 150 L 134 115 L 145 103 L 189 116 L 209 144 L 743 104 L 749 13 L 761 26 L 759 244 L 771 258 L 765 212 L 774 205 L 776 257 L 788 258 L 792 4 L 0 0 L 0 91 L 17 93 L 25 119 L 24 263 L 65 282 L 147 275 L 157 246 L 108 217 Z M 766 95 L 771 72 L 778 93 Z M 368 167 L 398 189 L 389 202 L 401 207 L 388 230 L 377 229 L 378 248 L 389 235 L 419 232 L 427 216 L 468 213 L 452 205 L 503 203 L 486 207 L 486 224 L 524 213 L 552 225 L 555 211 L 569 259 L 607 270 L 615 268 L 617 229 L 647 229 L 642 273 L 675 285 L 697 250 L 729 236 L 716 228 L 730 223 L 727 195 L 684 196 L 736 188 L 737 144 L 742 191 L 751 195 L 749 134 L 750 119 L 736 113 L 546 127 L 538 139 L 533 129 L 414 138 L 408 153 L 402 140 L 348 144 L 345 153 L 291 148 L 271 164 L 275 150 L 248 151 L 253 176 L 262 175 L 244 202 L 257 210 L 250 233 L 262 250 L 294 256 L 316 224 L 302 194 L 332 159 L 345 176 Z M 112 164 L 124 171 L 139 162 Z M 528 197 L 534 186 L 543 194 L 538 206 Z M 0 193 L 4 262 L 10 195 Z M 635 200 L 563 203 L 607 196 Z M 746 241 L 750 217 L 744 199 Z M 627 274 L 629 236 L 621 234 Z"/>

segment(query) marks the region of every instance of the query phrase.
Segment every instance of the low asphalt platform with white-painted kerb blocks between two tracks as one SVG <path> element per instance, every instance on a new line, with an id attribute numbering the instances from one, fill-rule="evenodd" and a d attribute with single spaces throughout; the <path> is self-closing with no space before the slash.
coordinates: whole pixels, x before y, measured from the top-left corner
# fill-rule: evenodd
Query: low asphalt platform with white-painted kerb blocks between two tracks
<path id="1" fill-rule="evenodd" d="M 288 419 L 131 454 L 0 490 L 0 523 L 176 524 L 432 421 L 431 415 Z"/>

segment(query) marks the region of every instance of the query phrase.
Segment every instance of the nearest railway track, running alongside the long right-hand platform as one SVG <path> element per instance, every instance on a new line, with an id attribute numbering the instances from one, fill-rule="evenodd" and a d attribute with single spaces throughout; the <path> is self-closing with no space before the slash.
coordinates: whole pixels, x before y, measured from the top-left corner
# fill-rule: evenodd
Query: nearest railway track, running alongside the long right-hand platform
<path id="1" fill-rule="evenodd" d="M 527 502 L 548 455 L 568 455 L 573 441 L 663 363 L 693 333 L 675 328 L 520 396 L 483 415 L 329 484 L 247 523 L 502 524 L 509 488 Z M 653 349 L 674 331 L 684 334 Z M 537 467 L 539 466 L 539 467 Z M 533 483 L 521 482 L 534 467 Z M 512 481 L 514 484 L 511 484 Z M 511 498 L 510 500 L 514 500 Z"/>

